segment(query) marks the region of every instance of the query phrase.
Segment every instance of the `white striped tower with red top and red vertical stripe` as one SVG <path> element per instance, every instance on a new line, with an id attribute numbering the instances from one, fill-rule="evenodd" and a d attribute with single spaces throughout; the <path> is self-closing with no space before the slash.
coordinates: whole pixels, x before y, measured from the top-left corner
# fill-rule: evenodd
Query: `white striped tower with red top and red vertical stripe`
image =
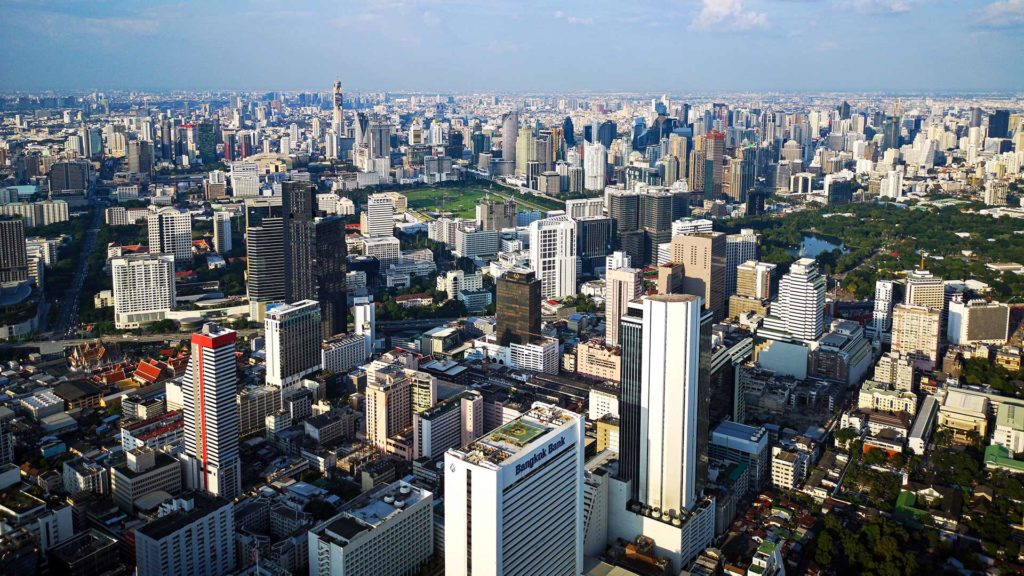
<path id="1" fill-rule="evenodd" d="M 184 479 L 189 490 L 232 499 L 242 491 L 233 330 L 206 324 L 191 336 L 181 384 L 185 412 Z"/>

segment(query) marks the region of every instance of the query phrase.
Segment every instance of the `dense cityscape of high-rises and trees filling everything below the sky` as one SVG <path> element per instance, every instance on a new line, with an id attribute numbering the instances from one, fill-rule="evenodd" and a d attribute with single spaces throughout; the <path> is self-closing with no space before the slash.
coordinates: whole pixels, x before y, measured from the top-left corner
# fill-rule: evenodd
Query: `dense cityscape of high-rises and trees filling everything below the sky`
<path id="1" fill-rule="evenodd" d="M 1024 573 L 1021 92 L 349 80 L 0 85 L 0 573 Z"/>

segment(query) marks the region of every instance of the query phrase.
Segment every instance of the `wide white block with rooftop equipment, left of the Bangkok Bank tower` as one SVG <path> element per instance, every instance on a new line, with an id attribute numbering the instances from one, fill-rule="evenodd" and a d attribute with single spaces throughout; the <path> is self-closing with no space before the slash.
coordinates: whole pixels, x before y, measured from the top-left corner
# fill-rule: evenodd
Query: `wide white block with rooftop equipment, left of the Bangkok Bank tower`
<path id="1" fill-rule="evenodd" d="M 433 495 L 383 484 L 308 532 L 310 576 L 419 574 L 434 553 Z"/>

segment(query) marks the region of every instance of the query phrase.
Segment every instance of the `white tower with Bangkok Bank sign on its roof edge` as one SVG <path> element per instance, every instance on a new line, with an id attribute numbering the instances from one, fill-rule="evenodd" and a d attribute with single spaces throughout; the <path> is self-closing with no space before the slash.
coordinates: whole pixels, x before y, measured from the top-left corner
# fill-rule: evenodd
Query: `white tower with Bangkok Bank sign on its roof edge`
<path id="1" fill-rule="evenodd" d="M 583 573 L 584 421 L 534 403 L 444 455 L 444 573 Z"/>

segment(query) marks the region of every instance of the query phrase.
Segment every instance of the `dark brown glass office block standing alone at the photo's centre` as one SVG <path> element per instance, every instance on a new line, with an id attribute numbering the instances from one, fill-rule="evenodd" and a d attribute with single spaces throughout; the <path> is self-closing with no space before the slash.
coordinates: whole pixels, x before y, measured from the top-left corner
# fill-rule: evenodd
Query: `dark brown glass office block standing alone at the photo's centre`
<path id="1" fill-rule="evenodd" d="M 498 342 L 528 344 L 541 337 L 541 281 L 530 271 L 510 271 L 498 279 L 495 304 Z"/>

